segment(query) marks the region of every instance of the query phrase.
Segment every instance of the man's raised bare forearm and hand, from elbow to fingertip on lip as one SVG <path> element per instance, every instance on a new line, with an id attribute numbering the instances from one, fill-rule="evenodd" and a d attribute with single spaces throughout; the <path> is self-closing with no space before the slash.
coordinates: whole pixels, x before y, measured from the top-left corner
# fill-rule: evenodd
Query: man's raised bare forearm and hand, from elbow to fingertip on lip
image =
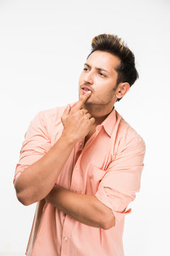
<path id="1" fill-rule="evenodd" d="M 50 193 L 74 145 L 88 134 L 95 119 L 86 110 L 81 110 L 87 97 L 88 93 L 81 97 L 72 110 L 70 106 L 64 110 L 64 131 L 60 139 L 45 156 L 24 169 L 16 178 L 16 196 L 24 205 L 40 201 Z"/>

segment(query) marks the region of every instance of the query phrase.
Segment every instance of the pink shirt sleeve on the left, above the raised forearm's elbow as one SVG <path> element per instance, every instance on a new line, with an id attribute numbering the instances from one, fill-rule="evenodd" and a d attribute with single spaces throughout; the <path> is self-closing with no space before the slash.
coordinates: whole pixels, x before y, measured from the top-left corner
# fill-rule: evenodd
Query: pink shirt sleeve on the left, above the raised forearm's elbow
<path id="1" fill-rule="evenodd" d="M 13 183 L 24 169 L 26 169 L 30 164 L 35 163 L 35 161 L 38 161 L 47 153 L 47 151 L 49 151 L 50 144 L 50 138 L 47 134 L 47 127 L 45 125 L 43 112 L 40 111 L 30 122 L 24 136 L 19 161 L 16 164 Z"/>

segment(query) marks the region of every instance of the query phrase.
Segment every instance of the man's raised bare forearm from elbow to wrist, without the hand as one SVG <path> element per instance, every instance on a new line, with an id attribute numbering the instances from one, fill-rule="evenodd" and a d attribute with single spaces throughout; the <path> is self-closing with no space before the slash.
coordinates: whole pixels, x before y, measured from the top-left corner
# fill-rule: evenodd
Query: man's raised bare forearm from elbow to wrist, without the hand
<path id="1" fill-rule="evenodd" d="M 74 143 L 62 135 L 45 156 L 28 166 L 15 182 L 18 200 L 30 205 L 45 198 L 55 186 L 73 148 Z"/>

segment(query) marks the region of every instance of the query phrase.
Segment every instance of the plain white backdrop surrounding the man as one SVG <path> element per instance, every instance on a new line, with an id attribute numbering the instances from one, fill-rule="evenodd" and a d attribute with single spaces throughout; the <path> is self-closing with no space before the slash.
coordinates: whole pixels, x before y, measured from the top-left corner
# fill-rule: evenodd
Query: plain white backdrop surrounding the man
<path id="1" fill-rule="evenodd" d="M 24 255 L 35 212 L 13 188 L 24 134 L 40 110 L 78 100 L 99 33 L 122 37 L 140 73 L 115 103 L 147 146 L 140 193 L 125 218 L 125 256 L 170 255 L 169 11 L 168 0 L 0 0 L 1 256 Z"/>

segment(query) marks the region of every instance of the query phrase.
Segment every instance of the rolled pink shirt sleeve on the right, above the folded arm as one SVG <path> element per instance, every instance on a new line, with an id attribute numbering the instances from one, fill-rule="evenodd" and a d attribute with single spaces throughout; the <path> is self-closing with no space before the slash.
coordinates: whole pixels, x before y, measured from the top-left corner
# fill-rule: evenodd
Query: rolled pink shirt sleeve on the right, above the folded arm
<path id="1" fill-rule="evenodd" d="M 120 149 L 98 186 L 95 196 L 111 208 L 115 215 L 115 225 L 132 211 L 126 208 L 135 199 L 135 193 L 140 191 L 144 157 L 145 142 L 142 137 L 134 137 Z"/>

